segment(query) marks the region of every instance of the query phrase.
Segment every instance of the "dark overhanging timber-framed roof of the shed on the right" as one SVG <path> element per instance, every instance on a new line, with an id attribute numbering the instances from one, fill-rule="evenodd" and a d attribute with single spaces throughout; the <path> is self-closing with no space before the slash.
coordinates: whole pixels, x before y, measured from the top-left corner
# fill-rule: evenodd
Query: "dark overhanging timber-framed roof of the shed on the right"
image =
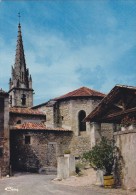
<path id="1" fill-rule="evenodd" d="M 123 97 L 125 97 L 125 102 Z M 125 105 L 124 105 L 125 103 Z M 120 123 L 121 116 L 136 111 L 136 87 L 116 85 L 95 109 L 84 119 L 85 122 Z M 119 117 L 120 116 L 120 117 Z M 116 117 L 116 118 L 115 118 Z"/>

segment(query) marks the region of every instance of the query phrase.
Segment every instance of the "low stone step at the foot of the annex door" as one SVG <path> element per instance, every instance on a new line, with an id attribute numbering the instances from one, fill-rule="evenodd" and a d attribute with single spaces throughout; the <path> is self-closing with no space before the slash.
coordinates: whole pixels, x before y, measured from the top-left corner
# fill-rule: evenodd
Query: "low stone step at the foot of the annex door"
<path id="1" fill-rule="evenodd" d="M 45 174 L 45 175 L 57 175 L 57 168 L 56 167 L 41 167 L 38 172 L 39 174 Z"/>

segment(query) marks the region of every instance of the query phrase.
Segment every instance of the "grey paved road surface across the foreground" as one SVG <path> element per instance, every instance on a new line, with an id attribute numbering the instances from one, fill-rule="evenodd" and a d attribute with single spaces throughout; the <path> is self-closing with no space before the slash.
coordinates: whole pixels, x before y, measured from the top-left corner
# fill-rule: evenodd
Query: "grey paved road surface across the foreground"
<path id="1" fill-rule="evenodd" d="M 56 176 L 16 174 L 0 179 L 0 195 L 136 195 L 136 192 L 96 186 L 68 186 L 52 181 Z"/>

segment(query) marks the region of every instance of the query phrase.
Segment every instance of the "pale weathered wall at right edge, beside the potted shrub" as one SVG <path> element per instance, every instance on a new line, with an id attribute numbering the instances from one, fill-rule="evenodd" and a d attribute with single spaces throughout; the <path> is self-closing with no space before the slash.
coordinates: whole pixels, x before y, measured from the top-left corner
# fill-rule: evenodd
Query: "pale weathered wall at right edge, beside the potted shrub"
<path id="1" fill-rule="evenodd" d="M 123 157 L 122 183 L 126 189 L 136 189 L 136 127 L 114 133 L 116 144 Z"/>

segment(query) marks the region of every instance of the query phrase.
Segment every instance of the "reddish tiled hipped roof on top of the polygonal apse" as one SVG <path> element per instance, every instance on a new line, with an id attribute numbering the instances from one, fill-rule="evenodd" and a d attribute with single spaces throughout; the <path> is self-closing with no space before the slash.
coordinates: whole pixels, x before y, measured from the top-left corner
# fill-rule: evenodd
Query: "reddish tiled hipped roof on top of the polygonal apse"
<path id="1" fill-rule="evenodd" d="M 60 100 L 60 99 L 71 98 L 71 97 L 102 97 L 103 98 L 105 97 L 105 94 L 89 89 L 87 87 L 81 87 L 65 95 L 57 97 L 54 100 Z"/>

